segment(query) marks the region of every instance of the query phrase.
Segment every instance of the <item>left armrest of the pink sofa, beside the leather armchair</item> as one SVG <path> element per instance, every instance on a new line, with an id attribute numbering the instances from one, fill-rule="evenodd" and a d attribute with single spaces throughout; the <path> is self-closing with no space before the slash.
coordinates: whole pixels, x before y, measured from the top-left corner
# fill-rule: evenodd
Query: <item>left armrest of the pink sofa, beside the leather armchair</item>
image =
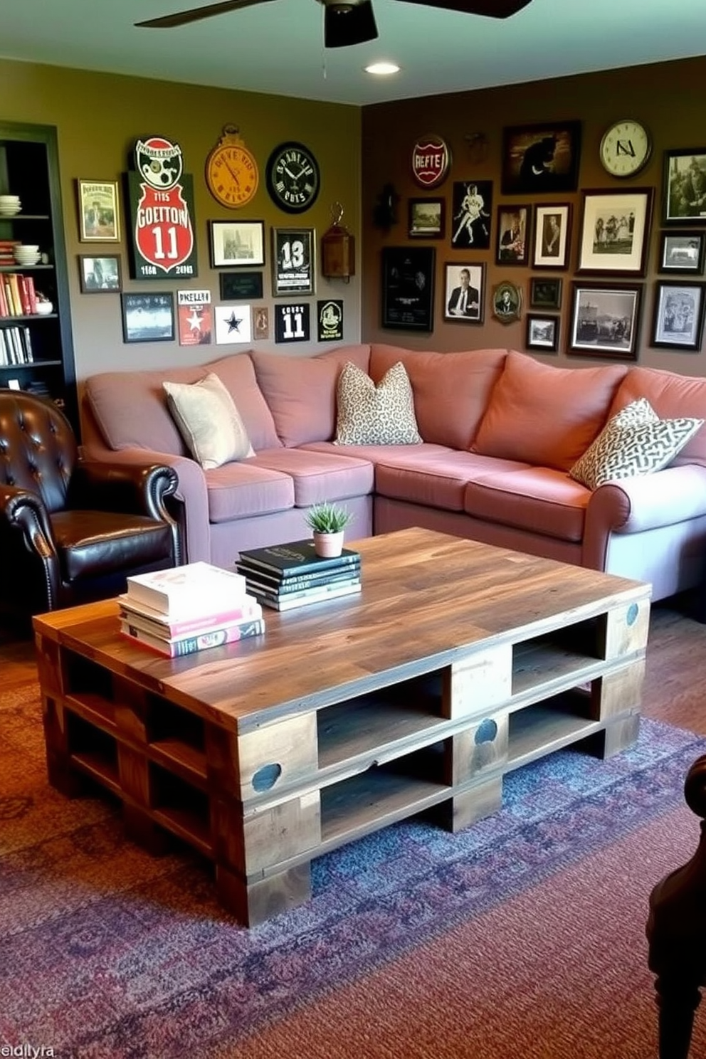
<path id="1" fill-rule="evenodd" d="M 177 488 L 168 497 L 167 506 L 175 513 L 181 531 L 182 562 L 211 562 L 211 527 L 209 524 L 209 495 L 203 469 L 188 456 L 173 452 L 152 452 L 147 449 L 106 449 L 101 446 L 82 446 L 82 460 L 97 461 L 113 466 L 162 464 L 177 472 Z"/>

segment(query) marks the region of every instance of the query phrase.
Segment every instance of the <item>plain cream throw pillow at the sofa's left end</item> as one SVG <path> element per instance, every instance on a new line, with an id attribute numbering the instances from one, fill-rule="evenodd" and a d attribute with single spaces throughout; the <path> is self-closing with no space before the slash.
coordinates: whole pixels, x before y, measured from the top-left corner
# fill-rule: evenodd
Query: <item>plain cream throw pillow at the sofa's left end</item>
<path id="1" fill-rule="evenodd" d="M 179 432 L 204 470 L 255 455 L 240 413 L 217 375 L 212 372 L 193 384 L 162 385 Z"/>

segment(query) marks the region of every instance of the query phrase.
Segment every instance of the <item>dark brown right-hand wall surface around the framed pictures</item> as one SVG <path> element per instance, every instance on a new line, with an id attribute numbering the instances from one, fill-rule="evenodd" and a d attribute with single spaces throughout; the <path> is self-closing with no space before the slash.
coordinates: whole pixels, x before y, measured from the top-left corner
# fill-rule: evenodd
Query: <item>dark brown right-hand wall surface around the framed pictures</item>
<path id="1" fill-rule="evenodd" d="M 384 341 L 415 348 L 461 349 L 483 346 L 525 348 L 524 318 L 504 325 L 491 315 L 489 292 L 501 280 L 518 284 L 525 295 L 525 312 L 530 275 L 563 277 L 561 334 L 559 357 L 551 362 L 580 364 L 597 362 L 584 356 L 565 355 L 568 331 L 572 281 L 576 279 L 576 254 L 581 219 L 581 189 L 616 191 L 630 187 L 655 189 L 654 212 L 648 254 L 648 271 L 644 283 L 641 326 L 638 337 L 638 359 L 642 364 L 668 367 L 689 375 L 706 375 L 706 358 L 700 353 L 650 348 L 652 308 L 662 217 L 663 152 L 666 148 L 703 147 L 706 143 L 703 123 L 703 85 L 706 79 L 706 58 L 677 62 L 633 67 L 605 73 L 562 77 L 475 92 L 428 96 L 399 103 L 381 104 L 363 110 L 363 319 L 365 341 Z M 622 118 L 635 118 L 651 130 L 652 157 L 646 168 L 628 180 L 609 176 L 598 158 L 598 147 L 605 128 Z M 530 201 L 572 202 L 573 232 L 569 268 L 565 271 L 543 271 L 495 264 L 496 207 L 499 203 L 524 203 L 527 196 L 501 195 L 502 132 L 506 125 L 523 125 L 580 119 L 582 146 L 579 190 L 574 194 L 536 196 Z M 412 178 L 412 146 L 423 133 L 435 132 L 446 140 L 452 151 L 452 168 L 447 180 L 433 192 L 420 189 Z M 474 157 L 469 137 L 482 132 L 487 137 L 485 160 Z M 493 217 L 491 249 L 487 251 L 451 249 L 451 197 L 454 180 L 493 181 Z M 373 223 L 377 197 L 385 183 L 392 182 L 400 196 L 397 223 L 384 232 Z M 446 237 L 441 240 L 419 240 L 408 237 L 408 203 L 410 197 L 441 195 L 447 203 Z M 689 226 L 686 226 L 689 227 Z M 380 326 L 380 255 L 387 246 L 433 246 L 436 248 L 436 294 L 433 334 L 392 330 Z M 454 261 L 487 263 L 485 324 L 445 322 L 443 265 Z M 531 258 L 530 258 L 531 259 Z M 595 276 L 582 276 L 594 281 Z M 605 277 L 619 282 L 620 276 Z M 690 279 L 660 276 L 660 279 Z M 535 310 L 536 311 L 536 310 Z M 544 356 L 544 355 L 540 355 Z M 547 360 L 549 357 L 547 357 Z"/>

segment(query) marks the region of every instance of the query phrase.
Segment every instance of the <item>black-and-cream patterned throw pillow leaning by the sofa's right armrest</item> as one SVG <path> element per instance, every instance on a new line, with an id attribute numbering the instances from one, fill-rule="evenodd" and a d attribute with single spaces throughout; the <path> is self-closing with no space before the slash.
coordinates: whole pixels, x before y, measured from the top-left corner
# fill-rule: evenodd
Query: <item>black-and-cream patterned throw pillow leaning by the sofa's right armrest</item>
<path id="1" fill-rule="evenodd" d="M 603 427 L 569 474 L 590 489 L 605 482 L 662 470 L 693 437 L 703 419 L 660 419 L 640 397 L 626 406 Z"/>

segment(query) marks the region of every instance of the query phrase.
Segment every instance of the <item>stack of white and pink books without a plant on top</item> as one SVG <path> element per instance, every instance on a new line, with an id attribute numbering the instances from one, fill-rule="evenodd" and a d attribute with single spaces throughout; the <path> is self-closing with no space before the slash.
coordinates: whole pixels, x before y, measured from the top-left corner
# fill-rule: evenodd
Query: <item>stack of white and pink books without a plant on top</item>
<path id="1" fill-rule="evenodd" d="M 263 608 L 246 578 L 209 562 L 128 577 L 117 602 L 121 632 L 167 658 L 265 632 Z"/>

